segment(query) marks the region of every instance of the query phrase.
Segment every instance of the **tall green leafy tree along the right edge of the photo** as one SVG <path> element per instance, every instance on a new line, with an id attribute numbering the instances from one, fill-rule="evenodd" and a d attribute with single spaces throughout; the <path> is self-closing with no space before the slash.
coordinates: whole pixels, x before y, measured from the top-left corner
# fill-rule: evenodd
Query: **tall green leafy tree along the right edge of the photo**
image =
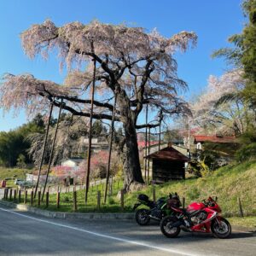
<path id="1" fill-rule="evenodd" d="M 241 99 L 253 111 L 253 115 L 247 118 L 248 125 L 241 135 L 241 148 L 236 153 L 238 160 L 247 160 L 254 158 L 256 152 L 256 0 L 243 1 L 242 9 L 248 20 L 241 34 L 229 38 L 234 48 L 219 49 L 213 56 L 224 56 L 229 63 L 243 70 L 243 90 L 233 96 L 224 96 L 224 101 Z"/>

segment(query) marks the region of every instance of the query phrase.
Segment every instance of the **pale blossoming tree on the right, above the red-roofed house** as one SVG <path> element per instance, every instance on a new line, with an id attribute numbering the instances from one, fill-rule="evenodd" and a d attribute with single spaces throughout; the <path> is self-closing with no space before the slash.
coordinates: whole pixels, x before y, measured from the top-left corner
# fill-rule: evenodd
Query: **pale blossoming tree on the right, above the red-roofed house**
<path id="1" fill-rule="evenodd" d="M 207 88 L 191 104 L 194 124 L 226 134 L 241 135 L 247 125 L 248 109 L 239 93 L 245 86 L 239 69 L 224 73 L 220 78 L 210 76 Z"/>

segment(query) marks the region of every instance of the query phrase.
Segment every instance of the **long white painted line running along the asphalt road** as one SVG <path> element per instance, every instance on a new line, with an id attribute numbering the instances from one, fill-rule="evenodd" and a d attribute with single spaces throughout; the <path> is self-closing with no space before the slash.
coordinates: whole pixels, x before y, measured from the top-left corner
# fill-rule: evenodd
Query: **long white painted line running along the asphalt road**
<path id="1" fill-rule="evenodd" d="M 108 238 L 108 239 L 115 240 L 115 241 L 123 241 L 123 242 L 131 243 L 131 244 L 134 244 L 134 245 L 137 245 L 137 246 L 148 247 L 148 248 L 152 248 L 152 249 L 155 249 L 155 250 L 160 250 L 160 251 L 167 252 L 167 253 L 177 253 L 177 254 L 184 255 L 184 256 L 198 256 L 199 255 L 198 253 L 196 253 L 196 254 L 183 253 L 183 252 L 178 251 L 176 249 L 170 249 L 170 248 L 166 248 L 166 247 L 155 247 L 155 246 L 149 245 L 149 244 L 141 242 L 141 241 L 132 241 L 132 240 L 119 238 L 119 237 L 115 237 L 115 236 L 103 235 L 101 233 L 92 232 L 90 230 L 82 230 L 82 229 L 79 229 L 79 228 L 76 228 L 76 227 L 73 227 L 73 226 L 70 226 L 70 225 L 58 224 L 58 223 L 55 223 L 53 221 L 48 221 L 48 220 L 41 219 L 41 218 L 34 218 L 34 217 L 31 217 L 31 216 L 27 216 L 26 214 L 21 214 L 19 212 L 13 212 L 13 211 L 10 211 L 10 210 L 7 210 L 7 209 L 3 209 L 1 207 L 0 207 L 0 210 L 3 211 L 3 212 L 13 213 L 13 214 L 21 216 L 23 218 L 31 218 L 31 219 L 37 220 L 39 222 L 43 222 L 43 223 L 47 223 L 47 224 L 53 224 L 55 226 L 59 226 L 59 227 L 62 227 L 62 228 L 67 228 L 67 229 L 70 229 L 70 230 L 77 230 L 77 231 L 84 232 L 84 233 L 87 233 L 87 234 L 90 234 L 90 235 L 93 235 L 93 236 L 100 236 L 100 237 Z"/>

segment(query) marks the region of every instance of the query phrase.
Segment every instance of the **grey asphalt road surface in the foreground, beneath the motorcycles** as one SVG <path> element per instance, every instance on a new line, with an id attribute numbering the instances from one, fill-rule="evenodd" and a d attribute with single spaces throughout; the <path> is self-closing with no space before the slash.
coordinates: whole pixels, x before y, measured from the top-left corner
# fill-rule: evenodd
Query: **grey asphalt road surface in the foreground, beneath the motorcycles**
<path id="1" fill-rule="evenodd" d="M 0 255 L 256 255 L 256 234 L 229 239 L 181 233 L 123 220 L 61 220 L 0 207 Z"/>

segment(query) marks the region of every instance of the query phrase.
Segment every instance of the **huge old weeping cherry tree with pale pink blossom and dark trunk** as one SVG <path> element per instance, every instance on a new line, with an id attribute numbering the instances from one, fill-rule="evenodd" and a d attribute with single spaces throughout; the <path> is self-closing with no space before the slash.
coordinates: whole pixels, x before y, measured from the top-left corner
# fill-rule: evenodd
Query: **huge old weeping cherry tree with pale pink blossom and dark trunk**
<path id="1" fill-rule="evenodd" d="M 58 51 L 61 67 L 69 71 L 64 85 L 35 79 L 30 74 L 6 75 L 0 92 L 5 110 L 26 108 L 37 113 L 48 108 L 49 102 L 74 115 L 90 117 L 90 84 L 96 61 L 96 96 L 94 119 L 112 119 L 113 97 L 116 95 L 115 121 L 123 125 L 125 140 L 125 189 L 143 183 L 137 148 L 137 129 L 155 127 L 154 123 L 139 124 L 143 107 L 164 115 L 188 111 L 177 91 L 186 84 L 177 78 L 177 62 L 173 54 L 185 51 L 189 42 L 195 44 L 194 32 L 180 32 L 165 38 L 155 30 L 147 33 L 140 27 L 113 26 L 93 21 L 57 27 L 49 20 L 22 32 L 26 55 L 45 58 L 51 50 Z M 92 61 L 94 60 L 94 61 Z"/>

